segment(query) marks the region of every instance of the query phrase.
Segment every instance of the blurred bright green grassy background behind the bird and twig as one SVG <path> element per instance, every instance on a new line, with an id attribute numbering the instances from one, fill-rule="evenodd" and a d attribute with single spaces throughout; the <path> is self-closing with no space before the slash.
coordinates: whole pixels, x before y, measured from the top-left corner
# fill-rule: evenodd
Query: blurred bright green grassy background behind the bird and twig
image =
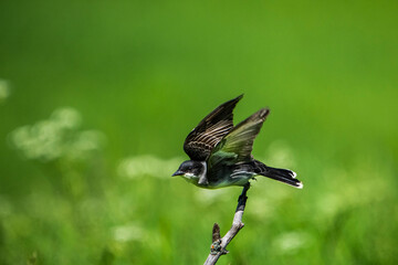
<path id="1" fill-rule="evenodd" d="M 202 263 L 240 189 L 201 191 L 170 169 L 241 93 L 237 121 L 271 108 L 254 156 L 304 189 L 259 178 L 219 263 L 397 264 L 397 8 L 2 1 L 0 264 Z M 64 107 L 82 123 L 55 137 L 61 155 L 27 157 L 12 131 Z M 103 141 L 78 140 L 93 130 Z"/>

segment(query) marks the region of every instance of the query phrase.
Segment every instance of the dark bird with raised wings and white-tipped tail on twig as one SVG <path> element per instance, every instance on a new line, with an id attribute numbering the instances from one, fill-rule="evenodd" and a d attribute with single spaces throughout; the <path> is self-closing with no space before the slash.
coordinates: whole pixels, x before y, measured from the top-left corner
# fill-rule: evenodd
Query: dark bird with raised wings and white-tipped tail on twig
<path id="1" fill-rule="evenodd" d="M 219 189 L 250 186 L 250 180 L 263 176 L 302 189 L 294 171 L 272 168 L 253 158 L 254 139 L 270 109 L 261 108 L 233 126 L 233 109 L 242 97 L 221 104 L 189 132 L 184 150 L 190 160 L 184 161 L 172 177 L 182 177 L 199 188 Z"/>

